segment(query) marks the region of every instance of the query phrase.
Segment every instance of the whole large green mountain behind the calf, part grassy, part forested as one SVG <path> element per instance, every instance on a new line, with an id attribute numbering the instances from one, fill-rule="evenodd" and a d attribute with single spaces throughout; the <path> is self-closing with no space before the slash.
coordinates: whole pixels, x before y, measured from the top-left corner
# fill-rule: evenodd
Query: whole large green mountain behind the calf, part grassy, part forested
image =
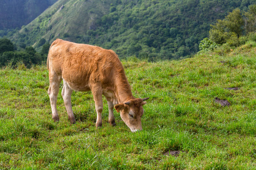
<path id="1" fill-rule="evenodd" d="M 120 58 L 189 56 L 210 24 L 255 0 L 59 0 L 9 38 L 40 48 L 56 38 L 113 49 Z M 0 35 L 1 36 L 1 35 Z"/>

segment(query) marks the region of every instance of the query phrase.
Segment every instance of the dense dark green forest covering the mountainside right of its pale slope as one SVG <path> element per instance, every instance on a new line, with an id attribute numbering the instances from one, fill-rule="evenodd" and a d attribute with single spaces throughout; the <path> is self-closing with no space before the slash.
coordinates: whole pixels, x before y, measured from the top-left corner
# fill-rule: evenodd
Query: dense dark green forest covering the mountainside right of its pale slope
<path id="1" fill-rule="evenodd" d="M 244 7 L 242 2 L 236 5 Z M 102 17 L 99 25 L 104 29 L 98 27 L 92 32 L 97 39 L 92 37 L 88 42 L 101 44 L 104 39 L 104 45 L 117 49 L 121 56 L 151 59 L 179 58 L 197 52 L 209 23 L 222 18 L 222 10 L 234 7 L 227 1 L 122 1 L 116 6 L 117 10 Z"/>

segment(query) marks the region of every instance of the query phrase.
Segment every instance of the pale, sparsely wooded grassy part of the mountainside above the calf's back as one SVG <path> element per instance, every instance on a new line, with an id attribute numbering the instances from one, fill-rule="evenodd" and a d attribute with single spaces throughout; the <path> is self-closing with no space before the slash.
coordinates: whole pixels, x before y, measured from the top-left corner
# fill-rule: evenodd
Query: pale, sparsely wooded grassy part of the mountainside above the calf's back
<path id="1" fill-rule="evenodd" d="M 41 39 L 48 42 L 60 37 L 75 40 L 88 29 L 95 27 L 96 19 L 108 12 L 110 2 L 59 0 L 11 37 L 11 40 L 19 45 L 34 45 L 35 47 L 40 46 L 36 42 Z"/>

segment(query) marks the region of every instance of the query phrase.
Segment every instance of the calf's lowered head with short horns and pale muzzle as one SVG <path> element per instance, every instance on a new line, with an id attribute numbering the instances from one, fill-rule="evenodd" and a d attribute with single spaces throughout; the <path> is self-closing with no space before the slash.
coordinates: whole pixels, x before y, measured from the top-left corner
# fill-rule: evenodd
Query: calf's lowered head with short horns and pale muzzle
<path id="1" fill-rule="evenodd" d="M 115 105 L 117 112 L 120 112 L 120 116 L 125 124 L 135 132 L 142 130 L 141 117 L 144 113 L 142 106 L 146 104 L 147 98 L 144 99 L 131 99 L 125 103 L 119 103 Z"/>

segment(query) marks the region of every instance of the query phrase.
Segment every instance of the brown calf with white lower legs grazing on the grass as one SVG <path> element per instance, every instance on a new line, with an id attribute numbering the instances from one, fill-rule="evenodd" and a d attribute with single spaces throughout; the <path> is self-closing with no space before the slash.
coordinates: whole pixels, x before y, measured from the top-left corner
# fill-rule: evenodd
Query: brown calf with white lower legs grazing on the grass
<path id="1" fill-rule="evenodd" d="M 52 118 L 59 121 L 56 108 L 57 94 L 63 79 L 61 95 L 72 124 L 76 122 L 71 106 L 72 91 L 92 91 L 95 102 L 96 127 L 102 126 L 102 95 L 108 100 L 109 123 L 115 125 L 113 108 L 131 131 L 142 130 L 142 105 L 148 98 L 135 99 L 117 54 L 98 46 L 76 44 L 57 39 L 52 42 L 47 58 L 49 70 L 48 95 Z M 115 104 L 115 106 L 114 106 Z"/>

